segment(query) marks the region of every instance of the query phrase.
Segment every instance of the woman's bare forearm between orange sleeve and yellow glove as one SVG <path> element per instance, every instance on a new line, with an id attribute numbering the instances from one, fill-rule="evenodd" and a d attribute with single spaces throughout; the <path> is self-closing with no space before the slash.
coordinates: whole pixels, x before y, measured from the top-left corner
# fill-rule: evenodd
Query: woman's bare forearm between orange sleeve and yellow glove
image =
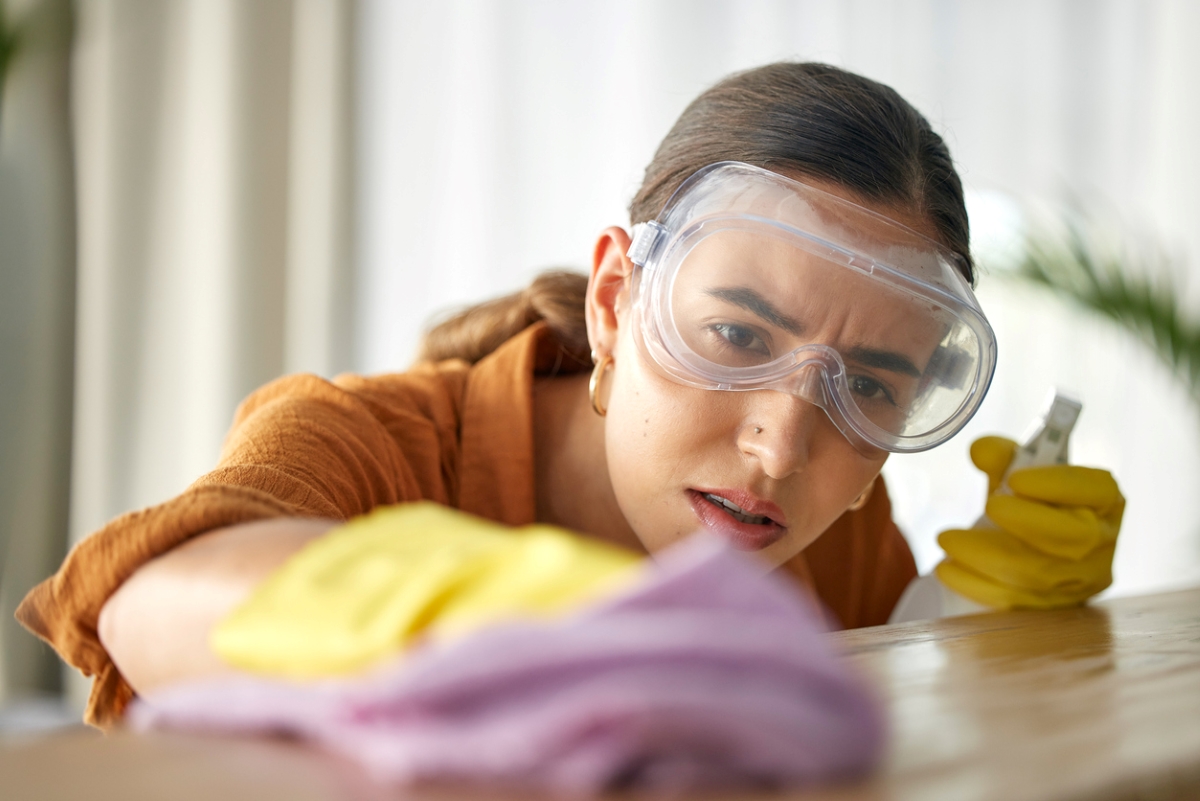
<path id="1" fill-rule="evenodd" d="M 281 518 L 217 529 L 146 562 L 100 613 L 100 640 L 139 693 L 228 670 L 209 631 L 283 561 L 337 525 Z"/>

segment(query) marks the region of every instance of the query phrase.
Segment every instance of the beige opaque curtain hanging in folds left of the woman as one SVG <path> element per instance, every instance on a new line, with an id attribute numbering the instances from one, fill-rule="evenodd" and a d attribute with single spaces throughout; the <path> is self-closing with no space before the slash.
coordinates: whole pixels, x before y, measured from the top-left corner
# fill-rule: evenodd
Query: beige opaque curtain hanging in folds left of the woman
<path id="1" fill-rule="evenodd" d="M 350 0 L 79 4 L 71 531 L 209 470 L 238 402 L 352 362 Z"/>

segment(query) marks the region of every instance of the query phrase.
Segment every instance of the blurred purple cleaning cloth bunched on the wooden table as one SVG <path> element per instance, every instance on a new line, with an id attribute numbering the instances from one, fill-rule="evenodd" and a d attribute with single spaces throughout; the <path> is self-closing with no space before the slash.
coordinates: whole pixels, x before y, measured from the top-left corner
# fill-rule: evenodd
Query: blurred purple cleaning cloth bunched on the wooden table
<path id="1" fill-rule="evenodd" d="M 880 759 L 866 685 L 786 579 L 692 537 L 638 583 L 556 622 L 509 622 L 410 651 L 355 679 L 251 675 L 136 701 L 136 728 L 282 731 L 389 782 L 787 785 Z"/>

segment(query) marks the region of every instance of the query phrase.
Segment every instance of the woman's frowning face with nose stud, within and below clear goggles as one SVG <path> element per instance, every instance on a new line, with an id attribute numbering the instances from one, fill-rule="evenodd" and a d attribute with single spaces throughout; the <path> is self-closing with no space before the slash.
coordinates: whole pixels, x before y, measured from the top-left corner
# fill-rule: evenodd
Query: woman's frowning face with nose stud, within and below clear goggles
<path id="1" fill-rule="evenodd" d="M 890 216 L 896 218 L 894 211 Z M 930 228 L 911 217 L 900 222 L 918 230 Z M 632 265 L 625 259 L 626 249 L 624 231 L 605 233 L 588 299 L 593 344 L 613 356 L 601 395 L 607 406 L 608 475 L 622 513 L 650 552 L 706 529 L 734 547 L 758 552 L 773 565 L 787 561 L 871 486 L 887 452 L 856 450 L 822 408 L 793 395 L 702 390 L 656 372 L 634 337 Z M 726 287 L 731 283 L 726 273 L 712 266 L 728 263 L 731 255 L 742 266 L 733 282 L 736 291 Z M 689 343 L 694 350 L 709 348 L 736 361 L 755 357 L 756 350 L 778 356 L 814 342 L 844 353 L 887 345 L 918 366 L 929 353 L 930 336 L 907 325 L 919 315 L 884 296 L 859 294 L 854 303 L 832 305 L 836 311 L 815 303 L 806 288 L 818 276 L 806 257 L 770 240 L 713 237 L 707 251 L 689 259 L 694 272 L 690 281 L 676 283 L 673 302 L 677 323 L 696 323 L 690 329 L 680 323 L 684 336 L 695 337 Z M 778 270 L 781 263 L 790 269 Z M 823 290 L 828 290 L 827 278 L 820 276 L 817 282 Z M 721 291 L 713 291 L 718 284 Z M 770 320 L 749 314 L 755 303 L 746 297 L 754 296 L 784 317 L 804 319 L 803 342 Z M 900 342 L 894 337 L 886 343 L 870 341 L 880 331 L 908 331 L 910 336 Z M 856 373 L 851 363 L 847 371 L 852 377 Z M 870 378 L 893 392 L 902 391 L 902 377 L 872 373 Z M 878 395 L 871 381 L 858 386 Z"/>

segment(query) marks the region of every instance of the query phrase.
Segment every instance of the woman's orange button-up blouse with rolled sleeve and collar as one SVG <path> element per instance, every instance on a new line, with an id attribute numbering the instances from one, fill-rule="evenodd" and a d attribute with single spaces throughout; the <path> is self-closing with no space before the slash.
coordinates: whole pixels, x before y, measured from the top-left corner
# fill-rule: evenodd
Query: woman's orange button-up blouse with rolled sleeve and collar
<path id="1" fill-rule="evenodd" d="M 79 542 L 17 619 L 95 676 L 84 719 L 108 727 L 133 691 L 96 633 L 104 602 L 138 567 L 204 531 L 270 517 L 349 519 L 433 500 L 509 525 L 533 523 L 533 379 L 583 369 L 542 324 L 470 366 L 325 381 L 292 375 L 238 409 L 217 468 L 181 495 L 122 514 Z M 882 478 L 786 565 L 846 627 L 887 621 L 917 574 Z"/>

